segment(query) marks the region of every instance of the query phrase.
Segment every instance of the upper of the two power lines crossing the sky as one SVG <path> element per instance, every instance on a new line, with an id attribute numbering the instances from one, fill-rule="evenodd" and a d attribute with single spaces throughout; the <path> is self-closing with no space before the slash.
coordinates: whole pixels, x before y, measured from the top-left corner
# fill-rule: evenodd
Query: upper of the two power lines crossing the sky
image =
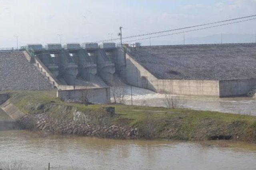
<path id="1" fill-rule="evenodd" d="M 177 28 L 177 29 L 170 29 L 170 30 L 165 30 L 165 31 L 158 31 L 158 32 L 152 32 L 152 33 L 145 33 L 145 34 L 139 34 L 139 35 L 132 35 L 132 36 L 128 36 L 128 37 L 122 37 L 122 39 L 128 39 L 128 38 L 134 38 L 134 37 L 142 37 L 142 36 L 146 36 L 146 35 L 152 35 L 152 34 L 158 34 L 158 33 L 165 33 L 165 32 L 170 32 L 170 31 L 178 31 L 181 29 L 188 29 L 188 28 L 193 28 L 193 27 L 200 27 L 200 26 L 204 26 L 204 25 L 212 25 L 212 24 L 216 24 L 216 23 L 222 23 L 222 22 L 227 22 L 227 21 L 234 21 L 234 20 L 240 20 L 240 19 L 244 19 L 244 18 L 251 18 L 251 17 L 255 17 L 256 15 L 251 15 L 251 16 L 245 16 L 245 17 L 240 17 L 240 18 L 234 18 L 234 19 L 230 19 L 230 20 L 223 20 L 223 21 L 217 21 L 217 22 L 211 22 L 211 23 L 205 23 L 205 24 L 200 24 L 200 25 L 194 25 L 194 26 L 190 26 L 190 27 L 183 27 L 183 28 Z M 119 38 L 114 38 L 112 39 L 114 40 L 118 40 Z M 104 42 L 104 41 L 110 41 L 111 39 L 105 39 L 105 40 L 101 40 L 101 41 L 94 41 L 94 43 L 100 43 L 100 42 Z"/>

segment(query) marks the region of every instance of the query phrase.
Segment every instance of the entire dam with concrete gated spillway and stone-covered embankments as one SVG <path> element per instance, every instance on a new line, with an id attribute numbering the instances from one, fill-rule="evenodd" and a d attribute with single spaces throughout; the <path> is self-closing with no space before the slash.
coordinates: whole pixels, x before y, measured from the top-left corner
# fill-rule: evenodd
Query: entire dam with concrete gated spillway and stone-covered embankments
<path id="1" fill-rule="evenodd" d="M 28 44 L 0 52 L 0 89 L 58 89 L 58 97 L 109 103 L 118 77 L 159 93 L 246 96 L 256 86 L 256 43 L 116 47 L 115 43 Z"/>

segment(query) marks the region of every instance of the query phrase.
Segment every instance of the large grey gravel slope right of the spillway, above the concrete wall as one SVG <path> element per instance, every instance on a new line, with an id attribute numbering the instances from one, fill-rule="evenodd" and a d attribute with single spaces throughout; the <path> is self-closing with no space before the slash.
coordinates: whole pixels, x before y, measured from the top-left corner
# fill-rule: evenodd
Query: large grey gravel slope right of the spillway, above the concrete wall
<path id="1" fill-rule="evenodd" d="M 256 43 L 130 48 L 132 57 L 159 79 L 256 78 Z M 217 64 L 215 64 L 217 63 Z"/>

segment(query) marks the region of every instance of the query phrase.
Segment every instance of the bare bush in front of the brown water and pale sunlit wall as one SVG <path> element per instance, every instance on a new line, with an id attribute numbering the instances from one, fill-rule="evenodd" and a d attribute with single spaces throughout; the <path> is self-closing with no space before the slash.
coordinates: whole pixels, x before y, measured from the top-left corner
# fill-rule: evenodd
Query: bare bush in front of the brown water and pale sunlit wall
<path id="1" fill-rule="evenodd" d="M 163 102 L 166 107 L 175 109 L 183 108 L 184 104 L 186 103 L 186 100 L 172 94 L 164 94 Z"/>

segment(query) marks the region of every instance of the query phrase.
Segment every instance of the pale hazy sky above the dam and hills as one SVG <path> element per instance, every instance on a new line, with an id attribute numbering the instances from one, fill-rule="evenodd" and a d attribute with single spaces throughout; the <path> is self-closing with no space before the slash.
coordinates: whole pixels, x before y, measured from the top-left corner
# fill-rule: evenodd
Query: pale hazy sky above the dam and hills
<path id="1" fill-rule="evenodd" d="M 256 0 L 0 0 L 0 47 L 26 43 L 91 42 L 256 14 Z M 186 33 L 256 33 L 256 20 Z M 152 39 L 168 44 L 183 35 Z M 149 41 L 142 41 L 148 45 Z"/>

